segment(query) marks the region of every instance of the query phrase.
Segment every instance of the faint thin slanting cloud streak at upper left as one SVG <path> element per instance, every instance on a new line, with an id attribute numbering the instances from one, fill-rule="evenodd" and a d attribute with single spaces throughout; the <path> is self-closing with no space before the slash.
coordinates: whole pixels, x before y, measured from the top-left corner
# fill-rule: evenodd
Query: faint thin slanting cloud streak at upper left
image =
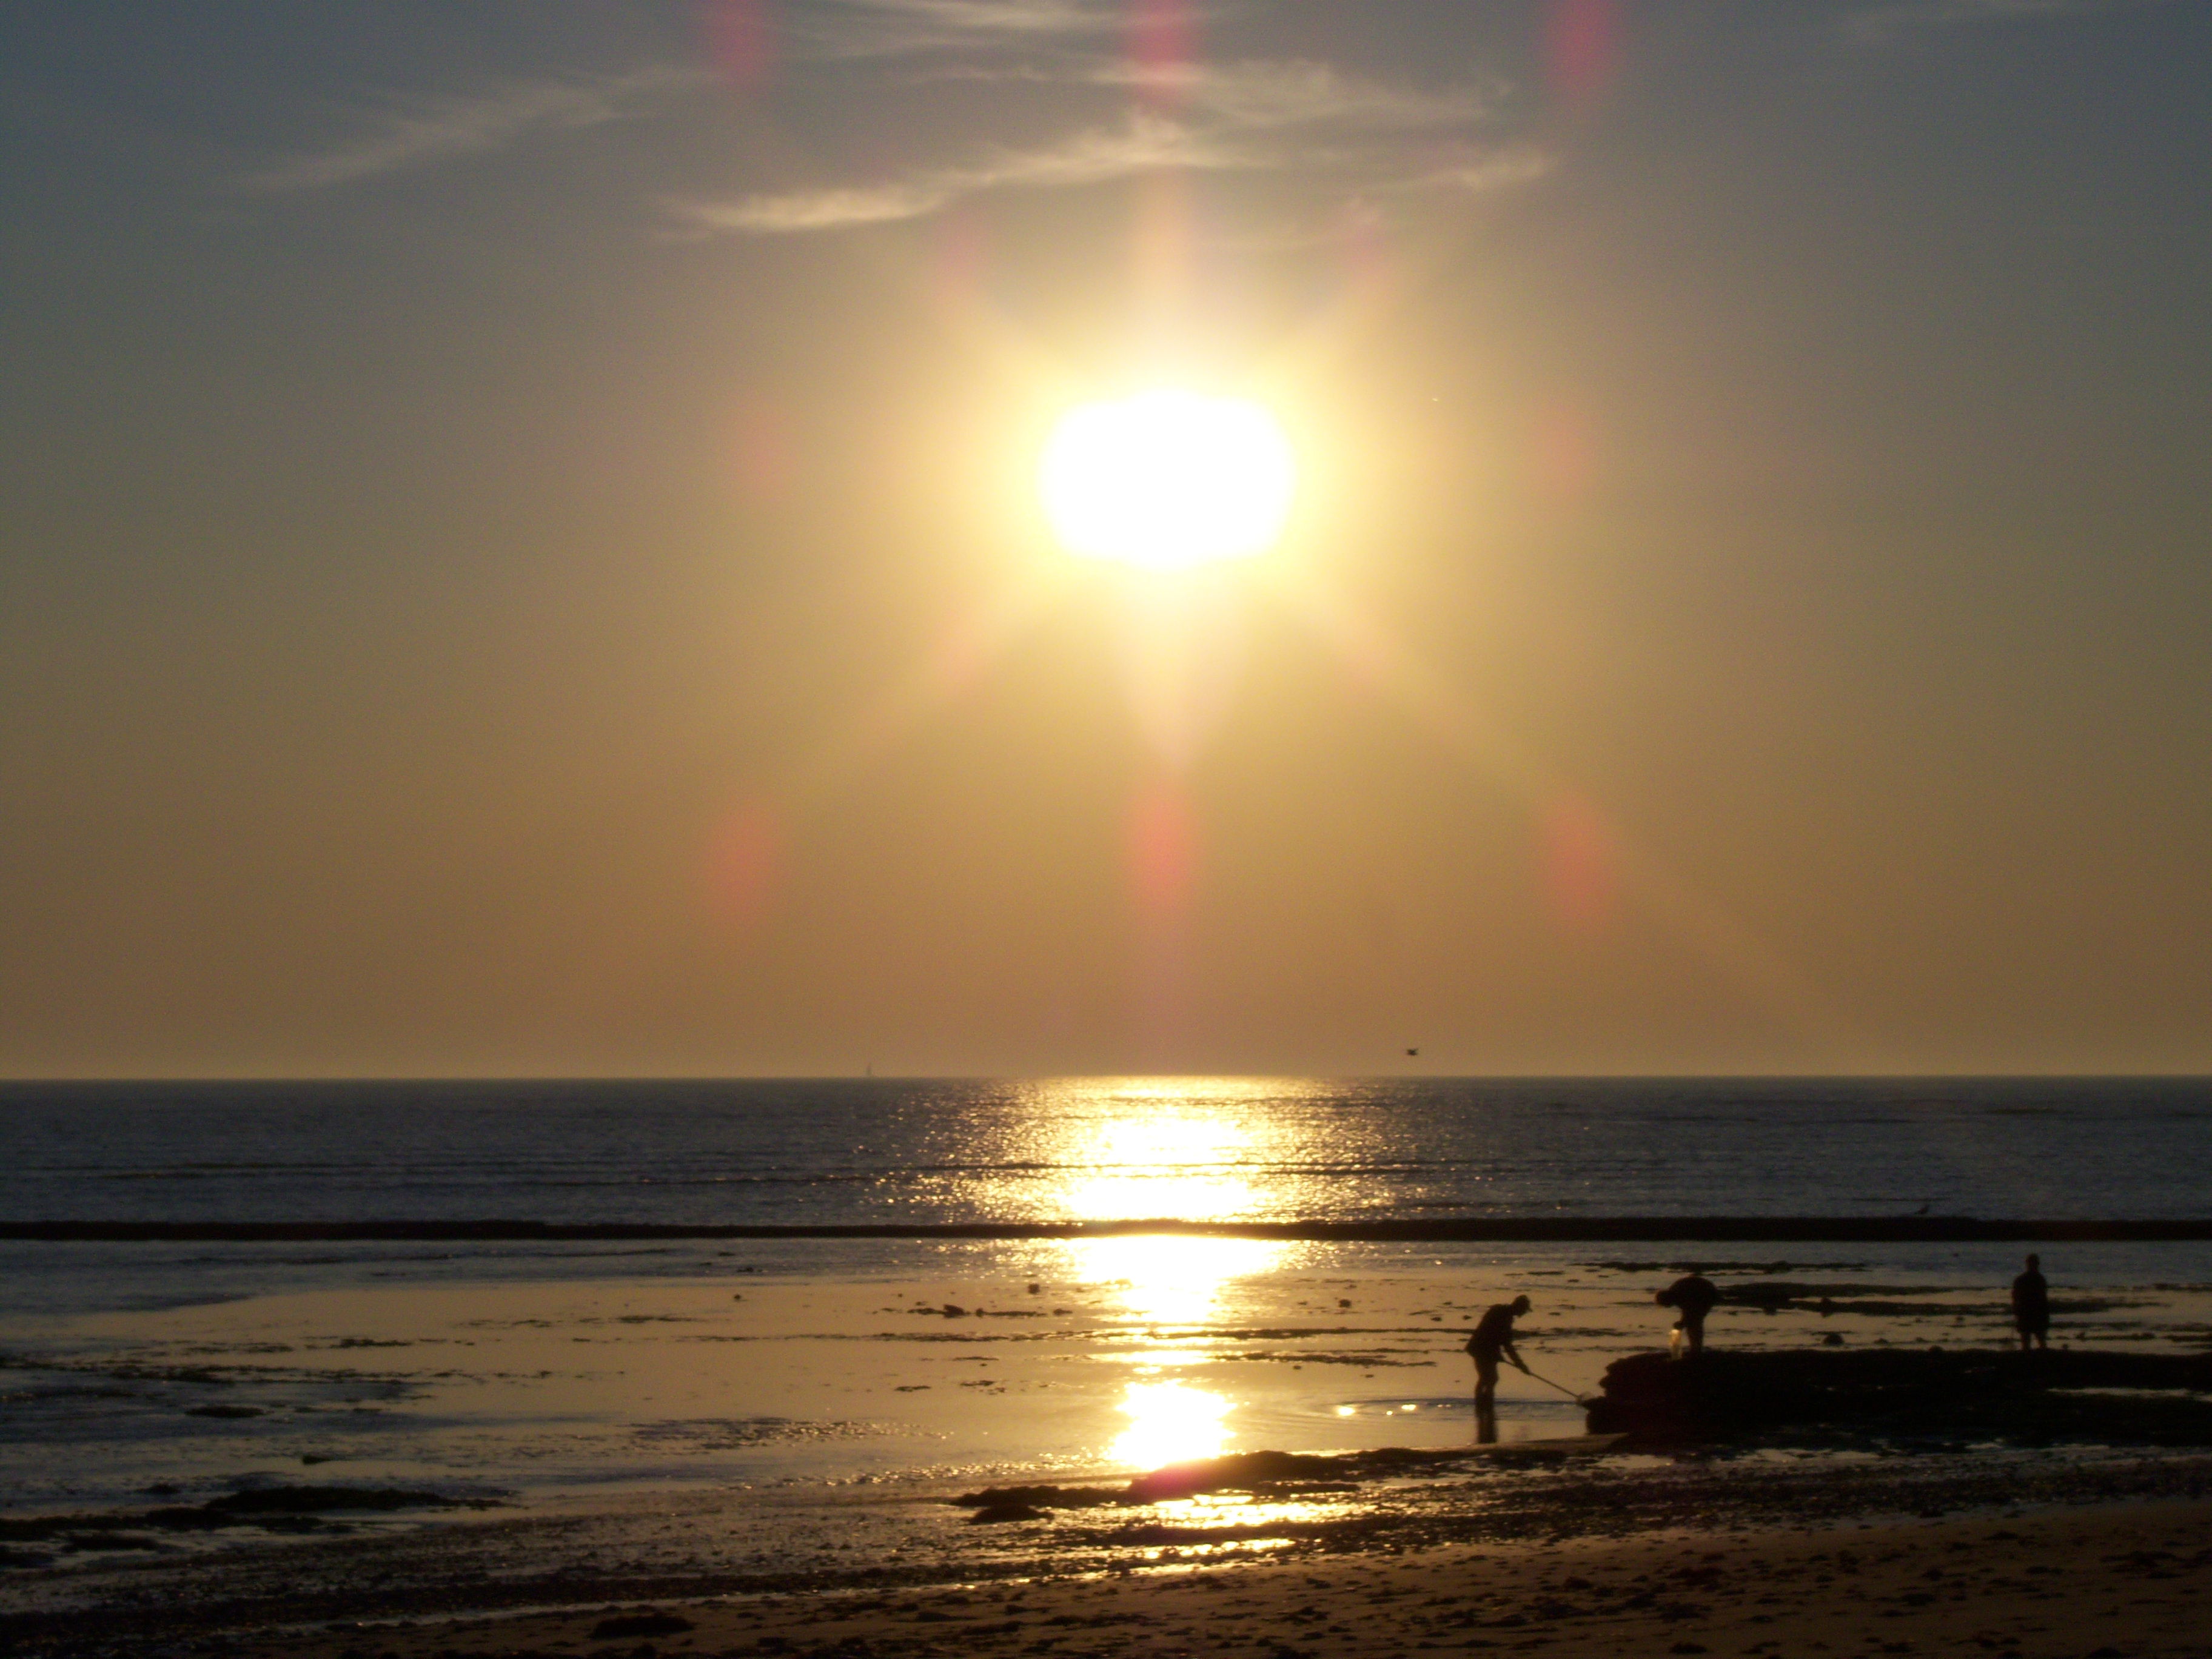
<path id="1" fill-rule="evenodd" d="M 418 97 L 387 106 L 354 137 L 243 173 L 241 190 L 292 195 L 405 173 L 451 155 L 498 150 L 535 133 L 604 126 L 635 115 L 653 95 L 701 80 L 661 64 L 624 75 L 540 80 L 467 97 Z"/>

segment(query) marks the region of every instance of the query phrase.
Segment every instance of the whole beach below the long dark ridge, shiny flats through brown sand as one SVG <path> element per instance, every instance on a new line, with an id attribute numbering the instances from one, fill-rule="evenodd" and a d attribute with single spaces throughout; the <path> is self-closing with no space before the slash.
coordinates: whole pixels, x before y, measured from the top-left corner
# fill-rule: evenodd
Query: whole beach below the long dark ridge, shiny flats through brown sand
<path id="1" fill-rule="evenodd" d="M 2188 1542 L 2212 1517 L 2201 1453 L 1469 1447 L 1458 1345 L 1482 1305 L 1528 1287 L 1531 1363 L 1588 1389 L 1652 1340 L 1650 1287 L 1672 1270 L 1128 1239 L 945 1252 L 865 1279 L 717 1261 L 688 1283 L 352 1287 L 15 1321 L 0 1356 L 9 1509 L 84 1517 L 0 1551 L 0 1646 L 2205 1650 L 2174 1646 L 2205 1573 Z M 1750 1292 L 1714 1321 L 1730 1347 L 2004 1338 L 1986 1272 L 1717 1272 Z M 2068 1292 L 2068 1336 L 2203 1343 L 2205 1285 L 2137 1285 Z M 1506 1389 L 1509 1438 L 1582 1427 L 1562 1391 Z M 1409 1453 L 1343 1480 L 1011 1524 L 951 1502 L 1261 1447 Z M 502 1506 L 135 1520 L 314 1482 Z M 2073 1575 L 2062 1595 L 2039 1566 Z"/>

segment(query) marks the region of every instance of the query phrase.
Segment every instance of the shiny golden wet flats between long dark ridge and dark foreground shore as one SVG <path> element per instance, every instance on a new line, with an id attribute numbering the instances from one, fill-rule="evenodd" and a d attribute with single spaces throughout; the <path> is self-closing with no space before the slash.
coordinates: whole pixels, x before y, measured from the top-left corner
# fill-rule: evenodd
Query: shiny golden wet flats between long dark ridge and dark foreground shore
<path id="1" fill-rule="evenodd" d="M 834 1256 L 834 1252 L 830 1252 Z M 1464 1329 L 1535 1296 L 1506 1438 L 1663 1340 L 1679 1263 L 1557 1252 L 1088 1239 L 914 1248 L 896 1270 L 369 1283 L 0 1321 L 7 1509 L 343 1480 L 518 1502 L 790 1480 L 1020 1478 L 1471 1436 Z M 2000 1345 L 2006 1261 L 1734 1261 L 1730 1349 Z M 2070 1261 L 2062 1340 L 2190 1352 L 2212 1287 Z M 392 1261 L 389 1272 L 416 1265 Z M 1557 1387 L 1553 1387 L 1557 1385 Z M 307 1471 L 314 1471 L 307 1475 Z"/>

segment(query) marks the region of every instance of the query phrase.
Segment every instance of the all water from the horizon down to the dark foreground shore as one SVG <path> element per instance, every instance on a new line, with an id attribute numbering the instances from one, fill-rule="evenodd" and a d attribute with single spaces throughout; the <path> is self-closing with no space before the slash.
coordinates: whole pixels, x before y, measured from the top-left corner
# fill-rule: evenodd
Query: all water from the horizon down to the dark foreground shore
<path id="1" fill-rule="evenodd" d="M 2004 1343 L 2022 1254 L 1418 1237 L 1464 1217 L 2197 1221 L 2212 1082 L 0 1084 L 0 1223 L 290 1228 L 0 1241 L 0 1509 L 1455 1444 L 1462 1327 L 1513 1292 L 1542 1365 L 1504 1433 L 1573 1436 L 1688 1265 L 1734 1296 L 1717 1340 Z M 1009 1237 L 338 1237 L 462 1221 Z M 1075 1221 L 1411 1237 L 1053 1237 Z M 2212 1345 L 2212 1243 L 2046 1250 L 2059 1340 Z"/>

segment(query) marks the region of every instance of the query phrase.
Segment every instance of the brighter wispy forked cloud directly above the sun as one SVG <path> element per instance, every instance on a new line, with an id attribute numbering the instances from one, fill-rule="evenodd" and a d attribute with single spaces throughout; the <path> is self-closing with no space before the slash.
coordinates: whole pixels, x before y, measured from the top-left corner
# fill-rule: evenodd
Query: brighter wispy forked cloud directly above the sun
<path id="1" fill-rule="evenodd" d="M 1442 135 L 1480 122 L 1489 91 L 1420 91 L 1340 75 L 1314 62 L 1183 64 L 1166 77 L 1121 62 L 1062 69 L 960 66 L 925 80 L 1022 80 L 1102 91 L 1146 86 L 1172 95 L 1175 115 L 1135 111 L 1119 126 L 1091 126 L 1035 148 L 991 148 L 975 159 L 916 168 L 876 184 L 825 184 L 734 201 L 684 201 L 672 212 L 699 232 L 787 234 L 918 219 L 962 197 L 1006 188 L 1099 184 L 1157 168 L 1294 170 L 1329 175 L 1349 190 L 1495 190 L 1548 170 L 1528 146 L 1484 150 L 1460 142 L 1444 159 L 1418 153 L 1409 133 Z"/>

